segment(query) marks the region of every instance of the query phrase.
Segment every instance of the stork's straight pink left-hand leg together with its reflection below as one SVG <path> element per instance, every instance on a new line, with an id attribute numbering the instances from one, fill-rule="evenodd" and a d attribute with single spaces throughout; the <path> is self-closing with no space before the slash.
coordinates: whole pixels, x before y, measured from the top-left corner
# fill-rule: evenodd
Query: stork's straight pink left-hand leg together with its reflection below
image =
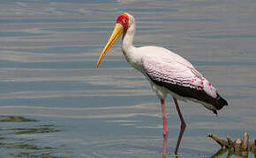
<path id="1" fill-rule="evenodd" d="M 163 130 L 162 130 L 162 135 L 163 135 L 162 155 L 165 155 L 166 154 L 168 126 L 167 126 L 167 118 L 166 118 L 164 100 L 163 99 L 161 99 L 161 108 L 162 108 L 162 125 L 163 125 Z"/>

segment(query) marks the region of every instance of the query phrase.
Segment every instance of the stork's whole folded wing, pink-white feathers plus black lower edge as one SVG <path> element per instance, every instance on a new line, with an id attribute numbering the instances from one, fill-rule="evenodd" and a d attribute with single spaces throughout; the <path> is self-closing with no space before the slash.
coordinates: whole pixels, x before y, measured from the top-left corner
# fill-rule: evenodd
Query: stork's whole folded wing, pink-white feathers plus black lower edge
<path id="1" fill-rule="evenodd" d="M 176 59 L 144 56 L 142 64 L 145 73 L 153 83 L 164 86 L 181 97 L 212 104 L 216 109 L 221 108 L 215 87 L 200 75 L 191 63 L 188 65 Z"/>

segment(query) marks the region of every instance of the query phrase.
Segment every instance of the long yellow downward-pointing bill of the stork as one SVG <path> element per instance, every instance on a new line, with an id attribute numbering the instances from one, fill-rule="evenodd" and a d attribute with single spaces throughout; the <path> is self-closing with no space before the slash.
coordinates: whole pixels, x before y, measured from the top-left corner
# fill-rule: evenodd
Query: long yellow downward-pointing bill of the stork
<path id="1" fill-rule="evenodd" d="M 107 43 L 107 45 L 104 47 L 104 49 L 102 50 L 102 54 L 100 55 L 98 61 L 97 61 L 97 68 L 99 67 L 102 58 L 105 56 L 105 54 L 107 54 L 109 48 L 115 43 L 115 41 L 118 39 L 118 37 L 124 32 L 124 27 L 121 24 L 116 24 L 115 28 L 109 38 L 109 41 Z"/>

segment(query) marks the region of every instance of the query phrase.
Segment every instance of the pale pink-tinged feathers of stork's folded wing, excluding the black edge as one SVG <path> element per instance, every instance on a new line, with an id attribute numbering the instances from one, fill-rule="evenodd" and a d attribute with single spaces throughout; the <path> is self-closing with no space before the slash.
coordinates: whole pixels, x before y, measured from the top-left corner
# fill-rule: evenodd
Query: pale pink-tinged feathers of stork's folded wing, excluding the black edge
<path id="1" fill-rule="evenodd" d="M 145 56 L 142 63 L 146 73 L 159 82 L 204 90 L 207 95 L 217 97 L 215 87 L 181 56 L 174 59 Z"/>

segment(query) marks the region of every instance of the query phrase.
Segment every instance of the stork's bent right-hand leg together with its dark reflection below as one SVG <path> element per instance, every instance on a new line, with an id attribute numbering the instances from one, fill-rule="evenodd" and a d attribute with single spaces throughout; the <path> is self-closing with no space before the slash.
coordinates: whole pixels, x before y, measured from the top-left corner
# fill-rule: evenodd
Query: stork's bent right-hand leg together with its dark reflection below
<path id="1" fill-rule="evenodd" d="M 179 147 L 179 144 L 180 144 L 180 141 L 182 139 L 182 136 L 183 136 L 183 133 L 184 133 L 184 129 L 185 129 L 185 122 L 184 122 L 184 118 L 182 116 L 182 113 L 178 107 L 178 104 L 177 104 L 177 99 L 175 97 L 173 97 L 173 100 L 174 100 L 174 103 L 176 105 L 176 109 L 177 109 L 177 113 L 178 113 L 178 116 L 180 118 L 180 121 L 181 121 L 181 126 L 180 126 L 180 132 L 179 132 L 179 135 L 178 135 L 178 139 L 177 139 L 177 145 L 176 145 L 176 148 L 175 148 L 175 152 L 174 154 L 177 156 L 177 151 L 178 151 L 178 147 Z"/>

